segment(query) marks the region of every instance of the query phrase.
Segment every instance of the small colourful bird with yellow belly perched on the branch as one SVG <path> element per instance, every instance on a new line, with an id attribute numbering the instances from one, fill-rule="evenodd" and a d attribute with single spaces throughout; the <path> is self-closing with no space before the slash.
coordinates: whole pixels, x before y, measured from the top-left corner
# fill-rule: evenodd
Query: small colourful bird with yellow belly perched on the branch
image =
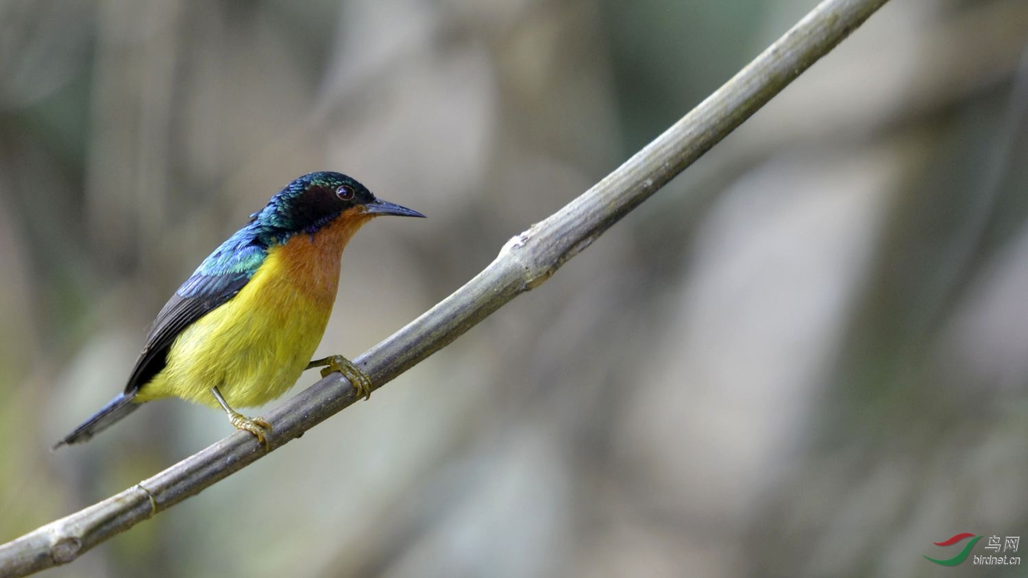
<path id="1" fill-rule="evenodd" d="M 87 441 L 141 403 L 164 397 L 220 408 L 262 446 L 272 426 L 234 408 L 266 403 L 304 370 L 339 372 L 358 397 L 367 375 L 342 355 L 311 360 L 335 303 L 343 248 L 384 215 L 420 213 L 376 198 L 356 180 L 310 172 L 274 194 L 214 249 L 157 313 L 117 396 L 53 446 Z"/>

